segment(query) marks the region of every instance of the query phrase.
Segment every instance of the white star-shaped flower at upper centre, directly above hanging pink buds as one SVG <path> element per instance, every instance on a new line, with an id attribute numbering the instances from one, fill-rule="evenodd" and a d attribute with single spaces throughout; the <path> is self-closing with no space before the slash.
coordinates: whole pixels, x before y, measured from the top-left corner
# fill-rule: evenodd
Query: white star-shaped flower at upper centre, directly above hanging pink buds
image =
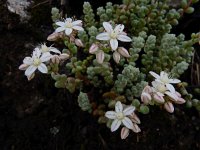
<path id="1" fill-rule="evenodd" d="M 126 33 L 123 32 L 124 25 L 117 25 L 114 30 L 109 22 L 103 22 L 103 27 L 106 32 L 100 33 L 96 36 L 96 39 L 103 41 L 110 41 L 110 46 L 112 50 L 116 50 L 118 47 L 118 40 L 123 42 L 131 42 L 131 38 L 126 36 Z"/>

